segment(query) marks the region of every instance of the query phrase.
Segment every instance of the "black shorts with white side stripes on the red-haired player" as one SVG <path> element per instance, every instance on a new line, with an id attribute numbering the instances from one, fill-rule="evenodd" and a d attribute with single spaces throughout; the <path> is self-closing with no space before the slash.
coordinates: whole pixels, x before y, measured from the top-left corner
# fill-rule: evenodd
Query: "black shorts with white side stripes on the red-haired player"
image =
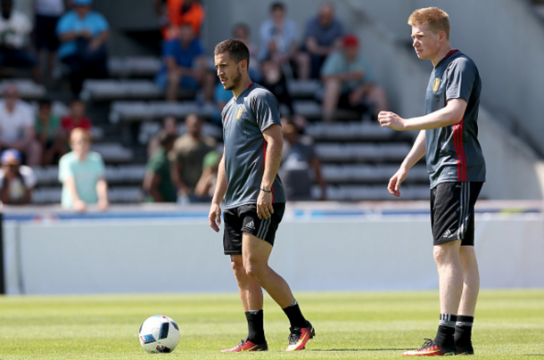
<path id="1" fill-rule="evenodd" d="M 433 244 L 461 239 L 462 246 L 474 246 L 474 204 L 483 183 L 441 183 L 431 189 Z"/>

